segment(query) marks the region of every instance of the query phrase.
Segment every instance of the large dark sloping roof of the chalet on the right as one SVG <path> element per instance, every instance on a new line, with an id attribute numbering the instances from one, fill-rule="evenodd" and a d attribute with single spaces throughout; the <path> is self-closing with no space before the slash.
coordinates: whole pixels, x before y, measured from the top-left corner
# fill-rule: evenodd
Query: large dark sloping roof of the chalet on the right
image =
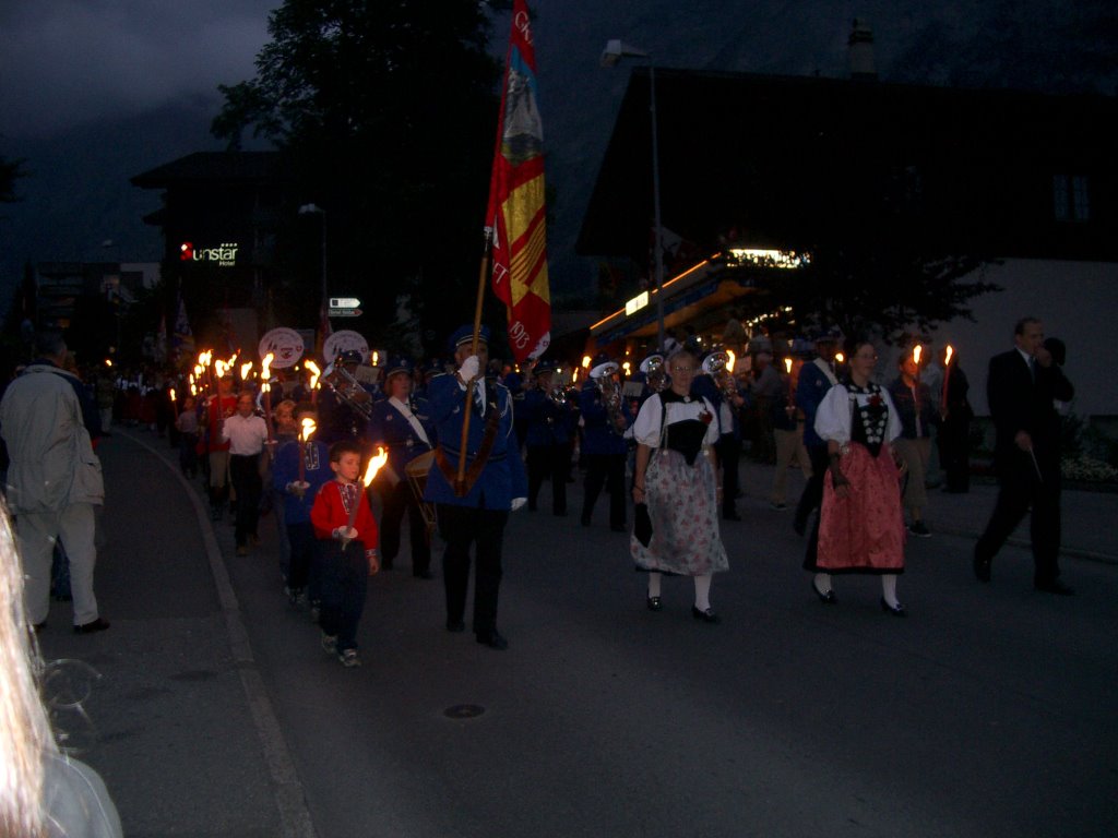
<path id="1" fill-rule="evenodd" d="M 645 263 L 648 68 L 634 69 L 577 249 Z M 865 235 L 922 249 L 1118 258 L 1118 101 L 877 80 L 655 69 L 663 226 L 700 251 Z M 1091 222 L 1053 225 L 1053 177 Z"/>

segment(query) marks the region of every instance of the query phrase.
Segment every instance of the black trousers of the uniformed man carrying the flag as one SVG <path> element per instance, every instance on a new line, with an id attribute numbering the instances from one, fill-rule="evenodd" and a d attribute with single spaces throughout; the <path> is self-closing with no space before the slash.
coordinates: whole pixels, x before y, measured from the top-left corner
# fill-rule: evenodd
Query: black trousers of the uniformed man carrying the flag
<path id="1" fill-rule="evenodd" d="M 446 542 L 443 582 L 446 587 L 446 620 L 462 622 L 470 587 L 470 547 L 476 545 L 474 571 L 474 634 L 489 638 L 496 630 L 498 593 L 501 589 L 501 550 L 509 513 L 454 504 L 438 504 L 438 532 Z"/>

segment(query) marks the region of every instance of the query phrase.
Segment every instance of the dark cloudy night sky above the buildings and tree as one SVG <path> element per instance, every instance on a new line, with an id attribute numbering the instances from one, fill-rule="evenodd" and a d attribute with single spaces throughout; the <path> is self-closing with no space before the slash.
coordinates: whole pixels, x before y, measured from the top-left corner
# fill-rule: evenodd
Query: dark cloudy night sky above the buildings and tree
<path id="1" fill-rule="evenodd" d="M 0 3 L 0 154 L 26 158 L 23 200 L 0 207 L 0 307 L 25 260 L 158 259 L 140 220 L 158 194 L 129 178 L 220 150 L 218 84 L 250 78 L 275 0 L 7 0 Z M 628 78 L 598 66 L 608 38 L 666 67 L 843 77 L 851 20 L 875 36 L 883 80 L 1080 89 L 1118 83 L 1112 3 L 536 0 L 553 283 L 570 254 Z M 993 7 L 993 8 L 992 8 Z M 493 31 L 503 56 L 506 18 Z M 484 201 L 484 196 L 479 197 Z M 111 241 L 112 244 L 105 244 Z"/>

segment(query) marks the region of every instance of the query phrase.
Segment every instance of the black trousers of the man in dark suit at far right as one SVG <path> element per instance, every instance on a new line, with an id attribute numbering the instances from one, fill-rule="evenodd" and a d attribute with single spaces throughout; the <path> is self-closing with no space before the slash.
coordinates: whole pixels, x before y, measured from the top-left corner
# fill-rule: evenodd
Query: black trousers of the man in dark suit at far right
<path id="1" fill-rule="evenodd" d="M 1032 507 L 1029 534 L 1033 544 L 1033 581 L 1048 584 L 1060 577 L 1059 461 L 1046 463 L 1042 459 L 1040 469 L 1043 478 L 1038 478 L 1026 453 L 1021 451 L 1016 460 L 1014 468 L 1004 469 L 1004 476 L 998 476 L 997 503 L 986 531 L 975 544 L 975 558 L 993 560 Z"/>

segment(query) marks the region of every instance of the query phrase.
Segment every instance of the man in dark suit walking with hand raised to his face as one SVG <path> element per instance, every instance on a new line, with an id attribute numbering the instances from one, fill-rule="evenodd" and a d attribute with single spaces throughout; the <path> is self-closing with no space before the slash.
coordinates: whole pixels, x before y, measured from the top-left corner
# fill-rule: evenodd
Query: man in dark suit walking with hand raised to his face
<path id="1" fill-rule="evenodd" d="M 975 575 L 989 581 L 991 562 L 1031 506 L 1033 584 L 1038 591 L 1068 596 L 1074 591 L 1060 581 L 1060 417 L 1052 401 L 1070 401 L 1074 388 L 1044 349 L 1039 320 L 1020 320 L 1013 342 L 1014 349 L 991 359 L 986 379 L 999 489 L 975 545 Z"/>

